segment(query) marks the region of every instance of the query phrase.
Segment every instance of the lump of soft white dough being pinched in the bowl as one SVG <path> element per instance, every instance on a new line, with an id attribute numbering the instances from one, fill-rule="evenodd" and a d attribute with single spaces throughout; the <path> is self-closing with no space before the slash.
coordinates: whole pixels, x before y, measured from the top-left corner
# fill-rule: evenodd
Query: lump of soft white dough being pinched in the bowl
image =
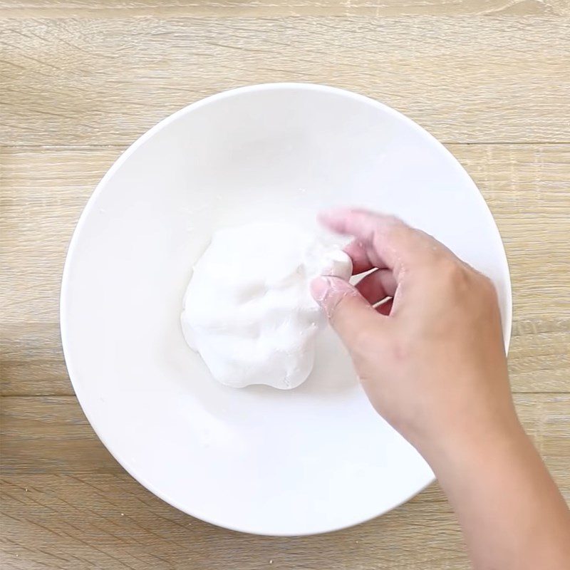
<path id="1" fill-rule="evenodd" d="M 351 273 L 347 254 L 296 227 L 219 230 L 194 266 L 182 331 L 222 384 L 296 388 L 311 373 L 325 323 L 309 284 Z"/>

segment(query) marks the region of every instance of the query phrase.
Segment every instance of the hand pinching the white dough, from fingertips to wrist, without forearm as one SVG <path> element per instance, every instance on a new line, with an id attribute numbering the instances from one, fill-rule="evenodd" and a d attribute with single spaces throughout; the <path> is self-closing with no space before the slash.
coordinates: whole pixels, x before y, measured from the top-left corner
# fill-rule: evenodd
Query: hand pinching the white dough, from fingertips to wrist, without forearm
<path id="1" fill-rule="evenodd" d="M 518 425 L 492 282 L 394 217 L 343 209 L 320 219 L 355 238 L 353 274 L 375 269 L 356 287 L 320 277 L 311 291 L 380 415 L 428 460 Z"/>

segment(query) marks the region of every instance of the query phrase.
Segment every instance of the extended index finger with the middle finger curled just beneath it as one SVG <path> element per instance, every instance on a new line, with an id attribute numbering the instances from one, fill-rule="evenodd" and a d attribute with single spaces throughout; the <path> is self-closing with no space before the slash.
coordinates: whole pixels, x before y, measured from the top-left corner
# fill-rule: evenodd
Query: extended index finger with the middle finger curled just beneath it
<path id="1" fill-rule="evenodd" d="M 347 248 L 347 253 L 356 257 L 353 259 L 356 269 L 387 267 L 393 271 L 396 281 L 405 266 L 422 263 L 438 244 L 398 218 L 366 210 L 336 209 L 324 212 L 319 219 L 334 232 L 356 237 L 356 242 Z"/>

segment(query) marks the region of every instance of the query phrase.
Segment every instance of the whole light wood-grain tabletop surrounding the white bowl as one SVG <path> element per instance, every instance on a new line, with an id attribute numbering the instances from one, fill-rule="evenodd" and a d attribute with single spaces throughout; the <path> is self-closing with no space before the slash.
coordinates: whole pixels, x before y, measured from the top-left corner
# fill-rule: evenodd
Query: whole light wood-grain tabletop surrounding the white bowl
<path id="1" fill-rule="evenodd" d="M 569 499 L 569 16 L 569 0 L 0 0 L 0 566 L 468 567 L 437 484 L 342 532 L 229 532 L 126 475 L 78 406 L 58 294 L 81 209 L 150 126 L 247 83 L 378 98 L 465 165 L 507 247 L 517 408 Z"/>

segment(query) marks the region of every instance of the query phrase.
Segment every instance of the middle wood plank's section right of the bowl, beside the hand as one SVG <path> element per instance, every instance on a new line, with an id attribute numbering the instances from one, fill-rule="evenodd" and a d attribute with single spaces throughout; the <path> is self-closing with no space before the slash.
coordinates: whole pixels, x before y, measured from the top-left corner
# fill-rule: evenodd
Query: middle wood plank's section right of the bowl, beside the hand
<path id="1" fill-rule="evenodd" d="M 487 200 L 507 251 L 511 383 L 517 391 L 570 391 L 570 147 L 502 148 L 450 150 Z"/>

